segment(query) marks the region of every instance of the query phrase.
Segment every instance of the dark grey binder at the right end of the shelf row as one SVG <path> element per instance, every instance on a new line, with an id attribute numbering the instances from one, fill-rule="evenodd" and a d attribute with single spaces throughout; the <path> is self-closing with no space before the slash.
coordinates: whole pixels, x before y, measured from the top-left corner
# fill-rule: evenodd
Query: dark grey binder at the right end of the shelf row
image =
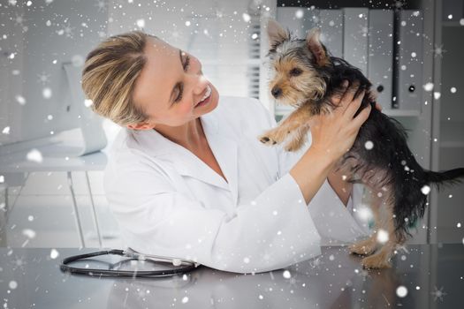
<path id="1" fill-rule="evenodd" d="M 393 108 L 417 110 L 422 107 L 422 11 L 399 11 L 397 100 Z"/>

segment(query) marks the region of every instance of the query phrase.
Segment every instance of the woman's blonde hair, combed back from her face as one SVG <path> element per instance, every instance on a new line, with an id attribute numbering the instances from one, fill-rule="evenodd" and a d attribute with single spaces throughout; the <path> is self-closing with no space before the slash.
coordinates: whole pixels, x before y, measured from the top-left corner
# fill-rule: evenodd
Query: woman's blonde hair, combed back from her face
<path id="1" fill-rule="evenodd" d="M 147 62 L 143 50 L 148 37 L 157 39 L 139 30 L 110 36 L 88 53 L 84 64 L 82 89 L 91 108 L 122 126 L 148 118 L 133 102 L 135 80 Z"/>

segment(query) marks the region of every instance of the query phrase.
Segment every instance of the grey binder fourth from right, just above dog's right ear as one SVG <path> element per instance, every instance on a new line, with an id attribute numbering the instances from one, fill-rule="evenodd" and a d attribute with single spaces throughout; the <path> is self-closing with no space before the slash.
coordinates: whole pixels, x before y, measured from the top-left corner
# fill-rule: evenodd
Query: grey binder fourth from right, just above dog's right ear
<path id="1" fill-rule="evenodd" d="M 343 11 L 319 11 L 317 26 L 321 28 L 321 41 L 329 49 L 331 56 L 343 57 Z"/>

